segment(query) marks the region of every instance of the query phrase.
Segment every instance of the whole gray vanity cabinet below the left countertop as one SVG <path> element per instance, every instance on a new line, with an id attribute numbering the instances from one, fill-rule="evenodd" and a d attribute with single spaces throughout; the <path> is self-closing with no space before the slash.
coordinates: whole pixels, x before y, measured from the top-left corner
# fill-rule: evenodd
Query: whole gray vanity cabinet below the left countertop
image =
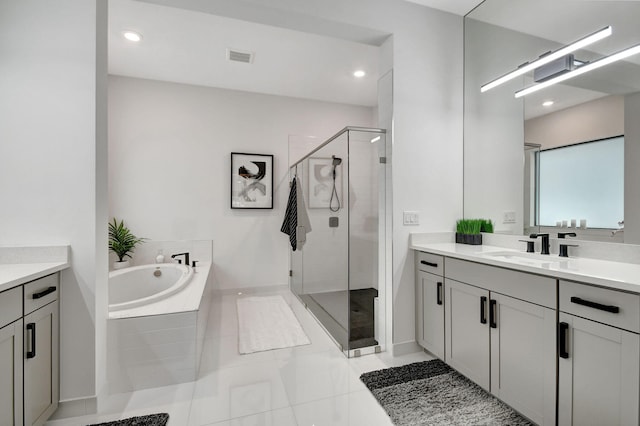
<path id="1" fill-rule="evenodd" d="M 0 293 L 0 425 L 40 426 L 59 400 L 58 274 Z"/>

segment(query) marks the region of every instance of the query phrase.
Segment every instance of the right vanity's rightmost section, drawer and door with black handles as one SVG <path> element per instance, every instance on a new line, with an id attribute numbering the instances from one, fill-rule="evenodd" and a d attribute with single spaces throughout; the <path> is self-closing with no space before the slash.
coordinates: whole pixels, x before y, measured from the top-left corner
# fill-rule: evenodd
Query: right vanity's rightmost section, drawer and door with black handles
<path id="1" fill-rule="evenodd" d="M 558 424 L 637 425 L 640 296 L 560 281 Z"/>

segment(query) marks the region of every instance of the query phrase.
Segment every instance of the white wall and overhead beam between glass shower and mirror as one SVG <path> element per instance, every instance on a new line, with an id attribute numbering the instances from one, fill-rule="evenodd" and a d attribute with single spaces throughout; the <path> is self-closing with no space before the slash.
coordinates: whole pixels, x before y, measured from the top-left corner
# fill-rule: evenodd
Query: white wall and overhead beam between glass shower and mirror
<path id="1" fill-rule="evenodd" d="M 243 3 L 247 19 L 265 24 L 290 16 L 292 26 L 324 20 L 325 30 L 393 34 L 393 343 L 417 350 L 409 234 L 452 230 L 462 216 L 462 17 L 401 0 L 270 0 L 269 16 L 251 13 L 262 0 Z M 404 210 L 418 211 L 420 225 L 404 227 Z"/>

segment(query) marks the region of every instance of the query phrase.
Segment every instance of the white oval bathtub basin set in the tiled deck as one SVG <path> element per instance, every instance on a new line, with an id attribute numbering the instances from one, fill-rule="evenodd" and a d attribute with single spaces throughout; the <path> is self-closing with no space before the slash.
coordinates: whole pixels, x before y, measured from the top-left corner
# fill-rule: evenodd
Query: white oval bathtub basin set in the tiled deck
<path id="1" fill-rule="evenodd" d="M 193 269 L 161 263 L 109 273 L 109 312 L 149 305 L 166 299 L 189 284 Z"/>

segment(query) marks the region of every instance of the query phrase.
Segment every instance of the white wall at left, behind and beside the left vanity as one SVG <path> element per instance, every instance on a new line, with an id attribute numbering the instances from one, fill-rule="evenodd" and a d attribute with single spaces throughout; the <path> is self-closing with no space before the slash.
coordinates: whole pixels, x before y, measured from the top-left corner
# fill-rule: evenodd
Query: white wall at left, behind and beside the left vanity
<path id="1" fill-rule="evenodd" d="M 0 244 L 71 245 L 60 293 L 62 400 L 101 386 L 96 304 L 106 301 L 96 285 L 106 281 L 106 272 L 98 276 L 106 258 L 97 252 L 106 234 L 96 218 L 106 157 L 96 155 L 106 100 L 96 95 L 96 55 L 106 57 L 106 45 L 96 50 L 96 25 L 106 14 L 96 3 L 0 1 Z"/>

